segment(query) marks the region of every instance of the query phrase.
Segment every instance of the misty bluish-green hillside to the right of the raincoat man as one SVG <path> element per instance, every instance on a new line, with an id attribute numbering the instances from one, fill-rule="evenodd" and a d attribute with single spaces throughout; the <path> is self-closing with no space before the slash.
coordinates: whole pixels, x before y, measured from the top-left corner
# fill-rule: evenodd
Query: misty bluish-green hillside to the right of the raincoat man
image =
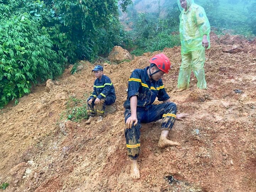
<path id="1" fill-rule="evenodd" d="M 204 0 L 201 1 L 210 25 L 221 33 L 242 34 L 251 37 L 255 29 L 253 23 L 255 8 L 251 0 Z M 248 11 L 245 9 L 248 7 Z"/>

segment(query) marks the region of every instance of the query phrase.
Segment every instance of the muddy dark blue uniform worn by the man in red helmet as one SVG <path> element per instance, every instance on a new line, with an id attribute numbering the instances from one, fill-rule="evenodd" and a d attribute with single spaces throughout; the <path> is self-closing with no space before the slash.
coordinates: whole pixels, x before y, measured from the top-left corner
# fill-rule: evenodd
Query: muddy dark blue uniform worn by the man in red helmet
<path id="1" fill-rule="evenodd" d="M 171 130 L 176 118 L 177 107 L 175 103 L 152 104 L 156 97 L 158 97 L 159 101 L 165 101 L 170 97 L 166 93 L 161 79 L 158 81 L 149 80 L 148 69 L 149 66 L 145 69 L 135 69 L 132 72 L 128 82 L 127 100 L 124 102 L 124 108 L 126 108 L 124 118 L 126 122 L 131 116 L 130 97 L 137 96 L 138 123 L 136 126 L 133 125 L 132 128 L 125 129 L 124 131 L 128 156 L 131 159 L 137 159 L 139 156 L 141 123 L 149 123 L 162 119 L 161 130 Z"/>

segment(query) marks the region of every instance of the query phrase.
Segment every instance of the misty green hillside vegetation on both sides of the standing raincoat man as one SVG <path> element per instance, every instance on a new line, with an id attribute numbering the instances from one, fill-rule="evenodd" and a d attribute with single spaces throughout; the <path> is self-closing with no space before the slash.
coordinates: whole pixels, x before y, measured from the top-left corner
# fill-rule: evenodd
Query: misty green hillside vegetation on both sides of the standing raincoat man
<path id="1" fill-rule="evenodd" d="M 142 1 L 146 2 L 133 1 L 128 9 L 130 20 L 124 24 L 132 30 L 126 32 L 123 47 L 132 50 L 131 54 L 141 55 L 180 45 L 177 34 L 181 12 L 177 1 L 158 0 L 154 5 L 143 5 Z M 247 38 L 256 34 L 256 3 L 253 0 L 197 0 L 195 3 L 204 8 L 212 29 L 218 34 L 243 34 Z M 143 12 L 137 12 L 137 4 Z"/>

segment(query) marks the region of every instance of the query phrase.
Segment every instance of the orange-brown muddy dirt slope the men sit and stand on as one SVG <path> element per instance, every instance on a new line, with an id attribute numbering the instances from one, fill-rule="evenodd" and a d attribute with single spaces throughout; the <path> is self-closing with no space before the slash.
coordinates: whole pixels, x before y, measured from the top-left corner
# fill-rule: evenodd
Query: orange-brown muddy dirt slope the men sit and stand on
<path id="1" fill-rule="evenodd" d="M 164 85 L 178 113 L 190 117 L 175 122 L 169 134 L 179 147 L 159 149 L 160 122 L 142 125 L 139 180 L 129 177 L 123 102 L 130 73 L 159 52 L 104 64 L 117 100 L 116 111 L 101 123 L 60 121 L 70 96 L 85 99 L 93 89 L 94 65 L 84 61 L 79 73 L 66 69 L 49 92 L 38 85 L 17 106 L 1 110 L 0 181 L 10 183 L 6 191 L 256 191 L 255 55 L 224 53 L 226 44 L 216 36 L 211 41 L 204 91 L 193 73 L 190 89 L 175 91 L 180 47 L 164 49 L 173 65 Z"/>

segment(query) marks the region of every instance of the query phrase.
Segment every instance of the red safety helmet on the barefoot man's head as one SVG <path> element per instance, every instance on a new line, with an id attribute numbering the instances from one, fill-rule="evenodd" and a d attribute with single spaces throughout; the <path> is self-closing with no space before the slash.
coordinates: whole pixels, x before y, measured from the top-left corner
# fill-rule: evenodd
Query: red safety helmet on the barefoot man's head
<path id="1" fill-rule="evenodd" d="M 158 67 L 158 69 L 164 71 L 165 73 L 169 73 L 169 70 L 171 69 L 171 62 L 169 58 L 166 57 L 165 54 L 163 53 L 154 55 L 149 60 L 149 62 L 155 64 Z"/>

